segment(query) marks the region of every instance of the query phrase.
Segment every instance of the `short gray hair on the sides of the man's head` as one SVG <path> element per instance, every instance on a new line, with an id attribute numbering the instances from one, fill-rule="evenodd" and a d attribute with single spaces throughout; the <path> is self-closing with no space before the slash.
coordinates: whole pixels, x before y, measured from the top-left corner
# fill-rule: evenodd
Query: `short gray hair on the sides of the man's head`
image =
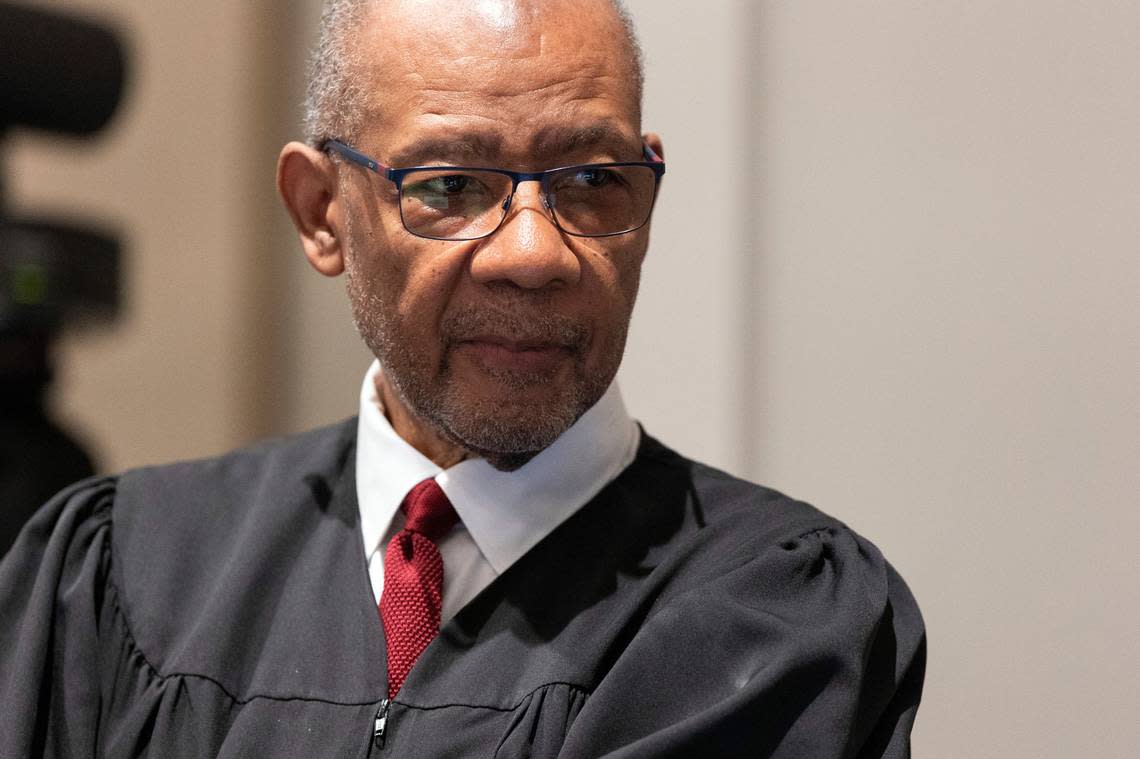
<path id="1" fill-rule="evenodd" d="M 326 0 L 320 15 L 320 39 L 309 64 L 309 82 L 304 101 L 304 137 L 312 147 L 328 139 L 355 140 L 366 113 L 361 98 L 365 92 L 360 77 L 360 51 L 355 33 L 364 23 L 369 2 L 374 0 Z M 610 0 L 632 60 L 634 95 L 641 104 L 645 72 L 641 44 L 633 17 L 622 0 Z"/>

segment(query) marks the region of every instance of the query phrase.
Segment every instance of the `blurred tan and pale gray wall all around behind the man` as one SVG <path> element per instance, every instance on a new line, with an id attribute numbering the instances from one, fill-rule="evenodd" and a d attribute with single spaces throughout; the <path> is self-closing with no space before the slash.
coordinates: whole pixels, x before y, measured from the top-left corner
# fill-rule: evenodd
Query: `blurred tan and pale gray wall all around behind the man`
<path id="1" fill-rule="evenodd" d="M 111 472 L 353 414 L 343 285 L 274 193 L 318 1 L 33 5 L 130 60 L 97 137 L 0 136 L 9 211 L 123 242 L 54 418 Z M 915 756 L 1140 756 L 1140 5 L 629 6 L 669 164 L 634 415 L 890 557 L 929 628 Z"/>

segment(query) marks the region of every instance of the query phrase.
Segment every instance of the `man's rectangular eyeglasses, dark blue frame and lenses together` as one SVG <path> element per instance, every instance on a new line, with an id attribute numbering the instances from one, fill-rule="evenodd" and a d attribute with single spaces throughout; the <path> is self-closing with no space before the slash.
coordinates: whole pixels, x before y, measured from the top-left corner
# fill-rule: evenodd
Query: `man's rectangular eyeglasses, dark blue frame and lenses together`
<path id="1" fill-rule="evenodd" d="M 586 163 L 519 172 L 470 166 L 392 169 L 340 140 L 332 150 L 396 185 L 404 228 L 427 239 L 467 240 L 498 229 L 520 182 L 539 182 L 554 225 L 576 237 L 612 237 L 649 221 L 665 162 L 644 146 L 644 162 Z"/>

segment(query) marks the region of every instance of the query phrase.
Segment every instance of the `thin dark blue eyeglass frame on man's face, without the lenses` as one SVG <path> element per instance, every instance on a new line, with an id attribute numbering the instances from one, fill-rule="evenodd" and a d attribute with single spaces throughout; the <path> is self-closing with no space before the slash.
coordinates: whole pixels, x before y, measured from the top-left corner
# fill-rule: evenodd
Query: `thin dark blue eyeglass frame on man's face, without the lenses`
<path id="1" fill-rule="evenodd" d="M 491 229 L 487 234 L 478 235 L 475 237 L 430 237 L 427 235 L 422 235 L 420 232 L 413 231 L 412 229 L 408 228 L 407 222 L 404 221 L 404 209 L 401 204 L 400 222 L 404 223 L 404 228 L 408 231 L 408 234 L 415 235 L 416 237 L 423 237 L 424 239 L 442 239 L 449 242 L 482 239 L 484 237 L 490 237 L 491 235 L 494 235 L 496 231 L 498 231 L 498 228 L 502 227 L 503 222 L 506 220 L 506 212 L 511 207 L 511 202 L 514 199 L 514 194 L 519 190 L 519 183 L 536 182 L 536 181 L 539 183 L 539 187 L 542 188 L 543 205 L 545 205 L 551 211 L 551 219 L 554 221 L 554 226 L 557 227 L 563 232 L 565 232 L 567 235 L 572 235 L 573 237 L 616 237 L 618 235 L 628 235 L 629 232 L 637 231 L 638 229 L 649 223 L 650 218 L 653 215 L 653 206 L 657 205 L 657 194 L 661 187 L 661 177 L 665 176 L 665 161 L 661 160 L 661 156 L 659 156 L 657 153 L 653 152 L 653 148 L 651 148 L 648 142 L 642 144 L 642 153 L 645 156 L 645 161 L 575 163 L 567 166 L 559 166 L 557 169 L 547 169 L 546 171 L 511 171 L 510 169 L 495 169 L 491 166 L 453 166 L 446 164 L 434 165 L 434 166 L 408 166 L 406 169 L 393 169 L 392 166 L 385 166 L 375 158 L 366 156 L 364 153 L 360 153 L 356 148 L 337 139 L 325 140 L 324 144 L 321 144 L 320 149 L 323 153 L 333 150 L 337 155 L 341 155 L 342 157 L 347 158 L 348 161 L 357 165 L 364 166 L 365 169 L 368 169 L 369 171 L 373 171 L 380 174 L 381 177 L 388 179 L 390 182 L 396 185 L 396 189 L 397 191 L 400 193 L 401 197 L 404 194 L 404 178 L 415 171 L 439 171 L 441 169 L 455 169 L 456 171 L 489 171 L 496 174 L 503 174 L 504 177 L 508 177 L 511 179 L 511 194 L 507 196 L 506 201 L 503 204 L 503 218 L 499 219 L 499 222 L 495 226 L 494 229 Z M 642 221 L 636 227 L 632 227 L 630 229 L 622 229 L 621 231 L 605 232 L 602 235 L 585 235 L 583 232 L 570 231 L 569 229 L 564 228 L 562 226 L 562 222 L 559 221 L 559 214 L 549 201 L 551 177 L 553 177 L 555 173 L 560 171 L 565 171 L 568 169 L 619 169 L 621 166 L 645 166 L 646 169 L 653 171 L 653 202 L 650 203 L 649 213 L 645 214 L 645 220 Z"/>

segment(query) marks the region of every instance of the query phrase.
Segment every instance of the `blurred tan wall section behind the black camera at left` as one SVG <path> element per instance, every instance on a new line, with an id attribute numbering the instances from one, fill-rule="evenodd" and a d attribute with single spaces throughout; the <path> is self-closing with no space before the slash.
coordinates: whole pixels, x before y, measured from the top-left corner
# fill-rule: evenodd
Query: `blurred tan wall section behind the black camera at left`
<path id="1" fill-rule="evenodd" d="M 247 440 L 270 426 L 255 387 L 279 295 L 264 237 L 274 18 L 226 0 L 36 5 L 122 27 L 132 63 L 124 106 L 95 141 L 17 132 L 6 145 L 17 210 L 112 221 L 128 242 L 122 320 L 60 345 L 59 414 L 106 470 Z"/>

